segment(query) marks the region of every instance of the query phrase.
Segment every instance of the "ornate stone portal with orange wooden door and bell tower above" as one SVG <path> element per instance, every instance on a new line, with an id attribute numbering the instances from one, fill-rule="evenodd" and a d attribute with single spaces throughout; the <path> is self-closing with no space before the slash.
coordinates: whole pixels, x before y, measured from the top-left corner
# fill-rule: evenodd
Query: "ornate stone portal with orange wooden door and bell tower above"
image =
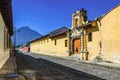
<path id="1" fill-rule="evenodd" d="M 84 59 L 84 55 L 87 54 L 86 28 L 83 27 L 88 24 L 86 12 L 81 9 L 72 14 L 72 26 L 68 31 L 69 54 L 80 54 L 80 59 Z"/>

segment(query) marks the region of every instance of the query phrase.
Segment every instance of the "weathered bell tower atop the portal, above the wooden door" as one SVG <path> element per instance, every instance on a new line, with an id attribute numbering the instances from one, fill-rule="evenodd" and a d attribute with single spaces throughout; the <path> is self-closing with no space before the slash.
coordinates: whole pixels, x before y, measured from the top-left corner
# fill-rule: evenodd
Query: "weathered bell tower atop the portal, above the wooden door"
<path id="1" fill-rule="evenodd" d="M 72 26 L 71 28 L 80 27 L 87 21 L 87 11 L 83 8 L 81 10 L 76 10 L 72 14 Z"/>

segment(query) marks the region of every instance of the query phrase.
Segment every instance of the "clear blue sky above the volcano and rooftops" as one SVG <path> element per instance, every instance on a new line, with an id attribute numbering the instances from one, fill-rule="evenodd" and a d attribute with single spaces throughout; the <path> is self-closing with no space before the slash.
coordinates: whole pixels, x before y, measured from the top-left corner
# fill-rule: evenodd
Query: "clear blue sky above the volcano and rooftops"
<path id="1" fill-rule="evenodd" d="M 28 26 L 42 35 L 60 27 L 70 28 L 72 13 L 84 8 L 89 20 L 102 16 L 120 0 L 12 0 L 13 26 Z"/>

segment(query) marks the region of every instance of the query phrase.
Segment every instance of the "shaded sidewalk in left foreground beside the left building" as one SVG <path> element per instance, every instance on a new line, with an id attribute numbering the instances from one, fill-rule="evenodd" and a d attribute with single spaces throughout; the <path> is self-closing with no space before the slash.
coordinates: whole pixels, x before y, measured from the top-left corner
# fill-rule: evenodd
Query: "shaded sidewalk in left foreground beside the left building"
<path id="1" fill-rule="evenodd" d="M 0 69 L 0 80 L 18 80 L 16 74 L 16 60 L 14 56 L 10 56 L 3 67 Z"/>

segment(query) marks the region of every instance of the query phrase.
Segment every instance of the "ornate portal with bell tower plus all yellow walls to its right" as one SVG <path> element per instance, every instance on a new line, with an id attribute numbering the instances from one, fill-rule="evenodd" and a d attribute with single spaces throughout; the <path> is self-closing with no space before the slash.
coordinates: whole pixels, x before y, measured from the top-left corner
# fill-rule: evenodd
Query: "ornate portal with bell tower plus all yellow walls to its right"
<path id="1" fill-rule="evenodd" d="M 81 9 L 72 15 L 68 31 L 69 54 L 81 60 L 120 62 L 120 5 L 93 21 Z"/>

